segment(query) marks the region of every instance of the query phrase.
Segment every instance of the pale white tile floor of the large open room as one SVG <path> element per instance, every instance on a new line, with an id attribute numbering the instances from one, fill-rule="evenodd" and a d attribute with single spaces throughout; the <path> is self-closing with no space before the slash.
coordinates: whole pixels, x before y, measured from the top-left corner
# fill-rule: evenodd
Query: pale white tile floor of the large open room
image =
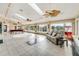
<path id="1" fill-rule="evenodd" d="M 26 42 L 33 42 L 34 34 L 4 34 L 4 43 L 0 44 L 0 56 L 65 56 L 64 48 L 52 44 L 45 36 L 37 37 L 38 43 L 29 46 Z"/>

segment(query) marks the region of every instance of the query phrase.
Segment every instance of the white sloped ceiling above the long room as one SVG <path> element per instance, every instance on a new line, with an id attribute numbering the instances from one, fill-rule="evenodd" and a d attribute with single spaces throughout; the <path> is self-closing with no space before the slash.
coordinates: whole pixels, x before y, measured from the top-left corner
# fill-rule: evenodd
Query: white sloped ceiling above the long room
<path id="1" fill-rule="evenodd" d="M 28 3 L 11 3 L 9 7 L 8 5 L 9 3 L 0 3 L 0 15 L 24 22 L 27 18 L 31 19 L 32 21 L 39 22 L 42 20 L 70 19 L 79 16 L 78 3 L 35 3 L 36 7 L 38 8 L 34 8 L 33 4 L 31 6 Z M 45 11 L 54 9 L 61 11 L 57 17 L 43 16 Z"/>

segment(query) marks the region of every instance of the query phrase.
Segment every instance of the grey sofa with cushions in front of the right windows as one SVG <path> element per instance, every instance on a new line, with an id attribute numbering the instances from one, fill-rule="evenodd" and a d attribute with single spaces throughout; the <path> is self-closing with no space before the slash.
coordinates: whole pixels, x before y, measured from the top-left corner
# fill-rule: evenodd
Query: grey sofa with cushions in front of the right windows
<path id="1" fill-rule="evenodd" d="M 56 45 L 59 45 L 61 43 L 61 41 L 63 41 L 63 38 L 64 38 L 64 36 L 61 34 L 62 34 L 62 32 L 61 33 L 52 32 L 52 34 L 50 34 L 50 33 L 46 34 L 46 37 L 50 42 L 52 42 Z"/>

